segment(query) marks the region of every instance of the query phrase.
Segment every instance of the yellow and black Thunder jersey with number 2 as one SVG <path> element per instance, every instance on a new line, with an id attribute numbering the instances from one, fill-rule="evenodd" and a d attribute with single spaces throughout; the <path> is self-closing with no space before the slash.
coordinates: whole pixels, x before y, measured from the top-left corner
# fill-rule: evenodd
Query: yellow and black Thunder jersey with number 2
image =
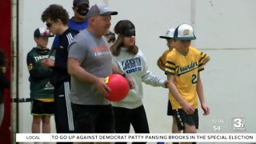
<path id="1" fill-rule="evenodd" d="M 209 56 L 193 47 L 189 47 L 186 55 L 179 53 L 176 49 L 167 54 L 166 74 L 174 75 L 174 83 L 182 98 L 194 108 L 198 107 L 197 100 L 197 78 L 198 72 L 204 70 L 203 62 Z M 173 109 L 181 109 L 182 106 L 169 94 Z"/>

